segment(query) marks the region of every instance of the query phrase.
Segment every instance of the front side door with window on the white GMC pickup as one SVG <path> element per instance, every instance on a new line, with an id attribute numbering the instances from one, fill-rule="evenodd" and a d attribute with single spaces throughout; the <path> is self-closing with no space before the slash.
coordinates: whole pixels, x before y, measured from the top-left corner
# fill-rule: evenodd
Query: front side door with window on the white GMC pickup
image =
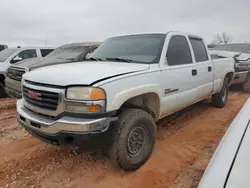
<path id="1" fill-rule="evenodd" d="M 197 70 L 186 36 L 173 35 L 169 39 L 162 75 L 164 86 L 162 116 L 195 102 Z"/>

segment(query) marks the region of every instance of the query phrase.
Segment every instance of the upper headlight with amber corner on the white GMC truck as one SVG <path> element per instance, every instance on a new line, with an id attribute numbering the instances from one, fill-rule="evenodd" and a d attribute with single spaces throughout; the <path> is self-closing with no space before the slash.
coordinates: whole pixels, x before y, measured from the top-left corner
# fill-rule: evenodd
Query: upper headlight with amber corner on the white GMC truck
<path id="1" fill-rule="evenodd" d="M 92 87 L 70 87 L 67 89 L 66 98 L 70 100 L 96 101 L 105 100 L 105 91 Z"/>

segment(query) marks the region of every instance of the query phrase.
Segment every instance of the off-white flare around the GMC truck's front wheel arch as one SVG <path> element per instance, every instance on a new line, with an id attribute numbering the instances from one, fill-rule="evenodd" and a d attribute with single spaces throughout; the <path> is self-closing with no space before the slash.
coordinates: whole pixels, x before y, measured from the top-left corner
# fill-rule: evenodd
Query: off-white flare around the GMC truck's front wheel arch
<path id="1" fill-rule="evenodd" d="M 120 109 L 120 107 L 133 97 L 143 95 L 146 93 L 155 93 L 158 95 L 161 104 L 161 89 L 157 84 L 147 84 L 132 87 L 117 93 L 112 102 L 112 109 Z"/>

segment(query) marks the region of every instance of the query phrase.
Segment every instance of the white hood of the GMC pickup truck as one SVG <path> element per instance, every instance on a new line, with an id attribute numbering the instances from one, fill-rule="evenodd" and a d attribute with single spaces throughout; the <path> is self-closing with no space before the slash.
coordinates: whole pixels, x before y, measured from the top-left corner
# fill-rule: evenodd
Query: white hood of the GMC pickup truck
<path id="1" fill-rule="evenodd" d="M 103 79 L 147 69 L 148 64 L 85 61 L 39 68 L 24 74 L 23 78 L 58 86 L 91 85 Z"/>

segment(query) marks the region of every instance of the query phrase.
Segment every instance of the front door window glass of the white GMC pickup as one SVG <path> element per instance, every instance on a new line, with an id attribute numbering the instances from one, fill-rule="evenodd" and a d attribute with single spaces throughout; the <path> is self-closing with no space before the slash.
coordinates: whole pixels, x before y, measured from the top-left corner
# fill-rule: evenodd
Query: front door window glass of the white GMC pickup
<path id="1" fill-rule="evenodd" d="M 176 35 L 170 39 L 167 61 L 169 66 L 193 63 L 186 37 Z"/>

